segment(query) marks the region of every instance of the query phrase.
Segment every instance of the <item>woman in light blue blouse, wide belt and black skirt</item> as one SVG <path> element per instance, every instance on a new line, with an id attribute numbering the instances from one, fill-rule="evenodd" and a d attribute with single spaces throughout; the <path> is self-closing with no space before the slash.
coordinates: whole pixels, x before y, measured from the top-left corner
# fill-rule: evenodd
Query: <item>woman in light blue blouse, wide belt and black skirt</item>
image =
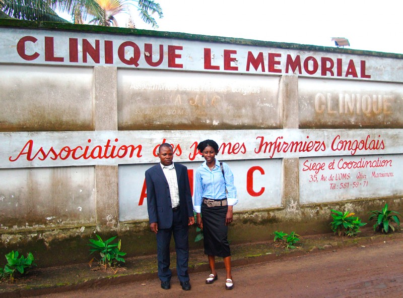
<path id="1" fill-rule="evenodd" d="M 218 144 L 215 141 L 200 142 L 197 150 L 206 159 L 196 171 L 193 204 L 197 226 L 203 229 L 205 254 L 209 257 L 211 269 L 206 283 L 217 280 L 215 257 L 223 257 L 227 271 L 225 288 L 232 289 L 234 282 L 227 234 L 228 225 L 232 222 L 232 206 L 238 202 L 234 175 L 228 164 L 216 159 Z"/>

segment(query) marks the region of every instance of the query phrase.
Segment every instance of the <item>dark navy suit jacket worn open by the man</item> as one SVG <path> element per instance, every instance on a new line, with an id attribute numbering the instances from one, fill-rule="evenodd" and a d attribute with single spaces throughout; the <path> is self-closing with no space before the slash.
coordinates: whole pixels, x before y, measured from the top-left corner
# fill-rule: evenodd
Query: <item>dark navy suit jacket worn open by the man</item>
<path id="1" fill-rule="evenodd" d="M 180 214 L 183 225 L 188 225 L 188 218 L 193 216 L 193 204 L 187 167 L 176 162 L 174 165 L 179 189 Z M 158 228 L 170 228 L 173 216 L 171 194 L 160 163 L 146 171 L 146 185 L 149 222 L 157 222 Z"/>

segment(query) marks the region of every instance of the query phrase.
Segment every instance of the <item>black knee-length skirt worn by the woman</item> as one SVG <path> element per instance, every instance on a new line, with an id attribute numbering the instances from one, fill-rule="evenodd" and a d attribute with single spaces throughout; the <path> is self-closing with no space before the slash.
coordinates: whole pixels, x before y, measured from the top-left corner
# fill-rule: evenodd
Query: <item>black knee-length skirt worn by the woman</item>
<path id="1" fill-rule="evenodd" d="M 225 225 L 228 206 L 207 207 L 201 204 L 201 219 L 203 219 L 203 242 L 205 254 L 209 256 L 231 256 L 228 243 L 228 226 Z"/>

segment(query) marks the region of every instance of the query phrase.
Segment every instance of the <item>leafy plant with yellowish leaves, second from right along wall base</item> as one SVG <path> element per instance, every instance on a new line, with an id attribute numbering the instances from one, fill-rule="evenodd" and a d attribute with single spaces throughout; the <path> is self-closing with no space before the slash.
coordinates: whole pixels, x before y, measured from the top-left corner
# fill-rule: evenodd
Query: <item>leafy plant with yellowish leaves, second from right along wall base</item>
<path id="1" fill-rule="evenodd" d="M 338 233 L 339 236 L 345 234 L 346 236 L 353 237 L 360 232 L 360 227 L 366 225 L 366 222 L 361 222 L 358 216 L 353 216 L 354 213 L 350 211 L 341 212 L 337 210 L 331 210 L 334 214 L 331 214 L 333 221 L 330 222 L 331 230 L 334 233 Z"/>

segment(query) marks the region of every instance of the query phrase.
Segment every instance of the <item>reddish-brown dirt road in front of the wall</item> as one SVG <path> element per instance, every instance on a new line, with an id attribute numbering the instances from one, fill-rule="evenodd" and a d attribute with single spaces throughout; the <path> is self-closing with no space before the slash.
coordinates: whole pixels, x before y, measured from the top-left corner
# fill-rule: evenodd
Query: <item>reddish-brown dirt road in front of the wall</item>
<path id="1" fill-rule="evenodd" d="M 169 290 L 161 289 L 156 278 L 37 297 L 403 297 L 403 242 L 386 241 L 236 267 L 233 290 L 224 287 L 224 269 L 211 285 L 204 282 L 208 274 L 191 274 L 190 291 L 183 291 L 174 276 Z"/>

